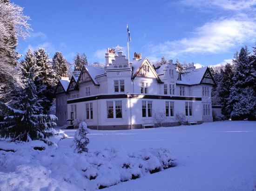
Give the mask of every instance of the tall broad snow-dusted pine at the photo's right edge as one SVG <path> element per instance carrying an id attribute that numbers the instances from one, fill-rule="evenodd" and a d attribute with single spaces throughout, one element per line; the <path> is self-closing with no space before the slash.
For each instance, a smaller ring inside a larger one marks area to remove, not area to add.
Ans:
<path id="1" fill-rule="evenodd" d="M 231 118 L 232 120 L 255 119 L 255 112 L 252 113 L 252 109 L 247 108 L 248 105 L 244 104 L 250 102 L 253 107 L 256 105 L 254 99 L 251 98 L 253 94 L 256 95 L 251 83 L 253 81 L 252 65 L 247 47 L 241 49 L 233 63 L 235 64 L 234 85 L 230 90 L 228 99 L 229 107 L 232 109 Z M 253 110 L 256 110 L 256 108 Z"/>

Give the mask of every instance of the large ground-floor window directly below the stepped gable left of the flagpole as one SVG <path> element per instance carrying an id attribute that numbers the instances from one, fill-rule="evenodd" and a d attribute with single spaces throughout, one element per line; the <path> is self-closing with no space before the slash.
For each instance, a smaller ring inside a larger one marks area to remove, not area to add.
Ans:
<path id="1" fill-rule="evenodd" d="M 109 119 L 122 118 L 122 101 L 107 101 L 107 115 Z"/>

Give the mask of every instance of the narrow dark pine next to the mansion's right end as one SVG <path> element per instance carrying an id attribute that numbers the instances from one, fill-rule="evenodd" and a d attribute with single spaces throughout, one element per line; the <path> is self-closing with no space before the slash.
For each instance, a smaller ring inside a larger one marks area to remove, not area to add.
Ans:
<path id="1" fill-rule="evenodd" d="M 233 86 L 234 77 L 234 67 L 233 65 L 227 63 L 224 69 L 221 71 L 222 78 L 220 81 L 216 81 L 219 84 L 218 96 L 220 98 L 220 104 L 222 105 L 222 114 L 225 115 L 227 119 L 230 118 L 231 109 L 228 104 L 228 99 L 230 95 L 230 89 Z"/>

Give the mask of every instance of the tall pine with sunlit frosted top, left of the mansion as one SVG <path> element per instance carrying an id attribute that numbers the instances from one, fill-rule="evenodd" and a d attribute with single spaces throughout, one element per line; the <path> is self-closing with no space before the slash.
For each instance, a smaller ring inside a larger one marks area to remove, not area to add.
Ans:
<path id="1" fill-rule="evenodd" d="M 39 67 L 38 75 L 35 77 L 37 96 L 39 103 L 43 107 L 43 114 L 47 114 L 54 99 L 54 86 L 56 78 L 54 70 L 49 62 L 49 57 L 44 49 L 39 48 L 34 51 L 36 64 Z"/>

